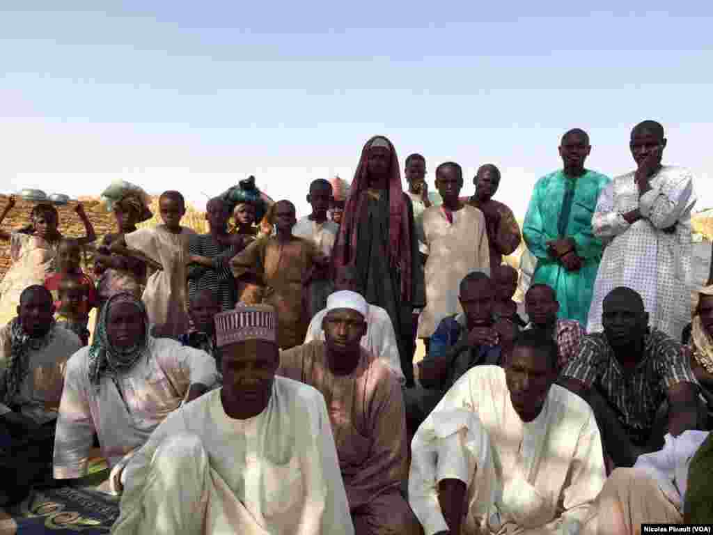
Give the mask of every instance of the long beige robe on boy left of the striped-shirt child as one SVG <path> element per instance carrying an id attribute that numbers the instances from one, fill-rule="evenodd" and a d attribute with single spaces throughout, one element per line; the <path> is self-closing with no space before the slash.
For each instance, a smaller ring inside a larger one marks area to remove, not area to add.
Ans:
<path id="1" fill-rule="evenodd" d="M 143 302 L 152 325 L 165 325 L 165 336 L 179 337 L 188 330 L 188 284 L 186 260 L 188 242 L 195 232 L 181 227 L 180 234 L 168 232 L 163 225 L 141 228 L 126 234 L 129 248 L 140 250 L 151 260 L 163 265 L 163 270 L 148 278 L 143 290 Z"/>

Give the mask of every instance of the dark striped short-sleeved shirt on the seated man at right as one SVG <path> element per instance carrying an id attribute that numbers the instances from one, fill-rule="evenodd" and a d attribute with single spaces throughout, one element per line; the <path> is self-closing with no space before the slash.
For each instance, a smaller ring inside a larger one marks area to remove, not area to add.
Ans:
<path id="1" fill-rule="evenodd" d="M 578 357 L 561 377 L 577 379 L 602 394 L 632 442 L 639 445 L 648 439 L 668 390 L 679 382 L 697 384 L 682 345 L 655 328 L 645 335 L 644 357 L 634 370 L 625 372 L 600 332 L 582 339 Z"/>

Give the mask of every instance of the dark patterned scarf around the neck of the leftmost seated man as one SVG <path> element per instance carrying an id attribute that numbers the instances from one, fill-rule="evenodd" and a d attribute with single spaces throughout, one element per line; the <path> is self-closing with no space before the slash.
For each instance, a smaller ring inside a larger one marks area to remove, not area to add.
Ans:
<path id="1" fill-rule="evenodd" d="M 5 374 L 0 382 L 0 399 L 8 406 L 13 404 L 14 397 L 20 392 L 22 382 L 30 372 L 27 352 L 39 351 L 51 344 L 54 338 L 56 323 L 51 320 L 49 330 L 41 338 L 33 338 L 22 328 L 19 317 L 10 322 L 10 360 L 6 365 Z"/>

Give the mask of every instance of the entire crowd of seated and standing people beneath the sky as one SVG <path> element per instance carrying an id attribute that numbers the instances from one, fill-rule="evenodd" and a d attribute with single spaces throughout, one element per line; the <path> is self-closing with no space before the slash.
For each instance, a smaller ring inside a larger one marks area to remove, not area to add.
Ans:
<path id="1" fill-rule="evenodd" d="M 0 302 L 17 302 L 0 331 L 0 481 L 15 481 L 0 499 L 80 479 L 98 447 L 116 534 L 710 522 L 713 279 L 692 285 L 692 177 L 662 165 L 666 143 L 635 126 L 637 170 L 610 180 L 568 131 L 522 233 L 493 199 L 495 165 L 463 198 L 458 163 L 438 165 L 436 193 L 412 154 L 404 191 L 384 136 L 351 184 L 314 180 L 299 220 L 252 183 L 207 203 L 205 235 L 180 225 L 178 191 L 139 229 L 150 199 L 124 183 L 105 192 L 117 232 L 94 248 L 96 282 L 81 204 L 83 238 L 36 205 L 0 232 Z M 503 263 L 523 239 L 538 260 L 524 311 Z"/>

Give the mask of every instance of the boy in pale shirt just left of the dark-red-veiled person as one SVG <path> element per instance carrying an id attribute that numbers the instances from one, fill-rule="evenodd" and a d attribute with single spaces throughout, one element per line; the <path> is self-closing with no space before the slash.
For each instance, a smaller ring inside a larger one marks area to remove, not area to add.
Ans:
<path id="1" fill-rule="evenodd" d="M 327 257 L 332 255 L 334 241 L 337 240 L 337 233 L 339 233 L 339 225 L 327 219 L 329 203 L 334 200 L 332 192 L 332 184 L 329 180 L 324 178 L 313 180 L 307 195 L 307 202 L 312 205 L 312 213 L 299 219 L 292 228 L 293 235 L 311 241 Z M 334 291 L 329 272 L 314 270 L 307 291 L 309 292 L 307 313 L 312 318 L 327 306 L 327 297 Z"/>

